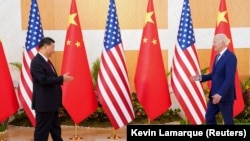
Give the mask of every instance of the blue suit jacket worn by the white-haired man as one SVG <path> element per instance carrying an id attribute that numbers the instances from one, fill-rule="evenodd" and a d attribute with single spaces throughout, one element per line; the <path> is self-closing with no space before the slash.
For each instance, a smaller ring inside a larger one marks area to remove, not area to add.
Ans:
<path id="1" fill-rule="evenodd" d="M 233 101 L 235 94 L 235 73 L 237 58 L 228 49 L 222 54 L 218 62 L 213 65 L 213 70 L 208 75 L 202 75 L 202 81 L 211 81 L 209 98 L 218 93 L 222 96 L 221 101 Z"/>

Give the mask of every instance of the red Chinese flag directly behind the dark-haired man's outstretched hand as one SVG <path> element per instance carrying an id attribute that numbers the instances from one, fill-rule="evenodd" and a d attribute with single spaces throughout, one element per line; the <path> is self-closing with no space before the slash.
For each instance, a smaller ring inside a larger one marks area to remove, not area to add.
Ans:
<path id="1" fill-rule="evenodd" d="M 71 3 L 62 61 L 62 74 L 67 72 L 74 80 L 63 84 L 63 106 L 78 124 L 96 110 L 97 98 L 75 0 Z"/>

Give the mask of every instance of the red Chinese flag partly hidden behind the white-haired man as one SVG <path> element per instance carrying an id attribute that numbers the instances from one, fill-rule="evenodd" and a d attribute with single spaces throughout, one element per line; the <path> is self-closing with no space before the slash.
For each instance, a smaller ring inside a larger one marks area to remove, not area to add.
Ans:
<path id="1" fill-rule="evenodd" d="M 229 24 L 229 18 L 228 18 L 228 11 L 227 11 L 225 0 L 220 1 L 220 7 L 219 7 L 218 14 L 217 14 L 216 28 L 215 28 L 214 34 L 218 34 L 218 33 L 223 33 L 227 35 L 227 38 L 229 40 L 228 49 L 234 52 L 233 40 L 231 36 L 230 24 Z M 216 56 L 216 53 L 214 49 L 212 48 L 211 59 L 210 59 L 211 70 L 213 67 L 213 61 L 215 59 L 215 56 Z M 241 113 L 244 109 L 244 100 L 243 100 L 240 79 L 239 79 L 237 70 L 235 74 L 235 88 L 236 88 L 235 90 L 236 99 L 234 101 L 234 112 L 233 112 L 234 117 L 237 116 L 239 113 Z"/>

